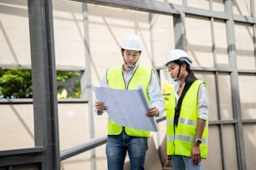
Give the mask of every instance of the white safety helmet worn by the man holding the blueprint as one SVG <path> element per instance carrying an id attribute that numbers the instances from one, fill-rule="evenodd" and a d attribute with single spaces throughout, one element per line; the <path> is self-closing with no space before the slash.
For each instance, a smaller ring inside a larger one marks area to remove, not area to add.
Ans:
<path id="1" fill-rule="evenodd" d="M 125 40 L 120 44 L 120 47 L 127 50 L 142 51 L 143 45 L 140 37 L 131 33 L 125 37 Z"/>

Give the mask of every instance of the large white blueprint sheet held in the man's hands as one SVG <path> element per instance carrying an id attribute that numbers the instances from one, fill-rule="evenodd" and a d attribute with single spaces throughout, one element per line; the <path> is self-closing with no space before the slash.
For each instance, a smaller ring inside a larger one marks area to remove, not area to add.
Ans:
<path id="1" fill-rule="evenodd" d="M 94 87 L 97 101 L 104 102 L 111 119 L 124 127 L 146 131 L 158 131 L 155 117 L 147 117 L 149 104 L 143 89 L 120 90 L 110 87 Z"/>

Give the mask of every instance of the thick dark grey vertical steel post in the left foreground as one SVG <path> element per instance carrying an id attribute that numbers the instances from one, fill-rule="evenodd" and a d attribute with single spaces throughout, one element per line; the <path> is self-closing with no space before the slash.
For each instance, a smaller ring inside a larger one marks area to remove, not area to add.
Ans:
<path id="1" fill-rule="evenodd" d="M 35 146 L 44 147 L 42 169 L 60 169 L 57 82 L 51 0 L 28 0 Z"/>

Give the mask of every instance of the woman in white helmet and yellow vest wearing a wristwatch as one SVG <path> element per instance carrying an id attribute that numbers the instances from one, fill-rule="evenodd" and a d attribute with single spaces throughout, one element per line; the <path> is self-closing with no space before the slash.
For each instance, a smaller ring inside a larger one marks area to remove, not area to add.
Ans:
<path id="1" fill-rule="evenodd" d="M 191 64 L 191 57 L 180 49 L 169 52 L 165 62 L 177 81 L 166 104 L 166 155 L 175 170 L 200 170 L 201 158 L 207 158 L 207 88 L 194 76 Z"/>

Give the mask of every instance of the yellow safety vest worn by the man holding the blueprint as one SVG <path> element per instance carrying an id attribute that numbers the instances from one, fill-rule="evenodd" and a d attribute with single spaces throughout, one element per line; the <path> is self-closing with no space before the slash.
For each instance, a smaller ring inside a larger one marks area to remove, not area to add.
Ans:
<path id="1" fill-rule="evenodd" d="M 152 69 L 149 69 L 146 67 L 140 67 L 140 66 L 136 67 L 136 70 L 128 84 L 128 87 L 127 87 L 128 90 L 137 89 L 138 86 L 142 86 L 148 101 L 150 101 L 149 95 L 147 94 L 147 87 L 151 82 L 152 71 L 153 71 Z M 107 82 L 109 87 L 115 88 L 115 89 L 126 89 L 122 67 L 111 67 L 110 69 L 108 69 L 106 73 L 106 77 L 107 77 Z M 119 135 L 122 132 L 122 128 L 123 128 L 122 126 L 113 122 L 111 120 L 111 117 L 109 116 L 108 135 Z M 125 133 L 134 137 L 146 137 L 146 138 L 150 137 L 149 131 L 144 131 L 136 128 L 125 127 Z"/>

